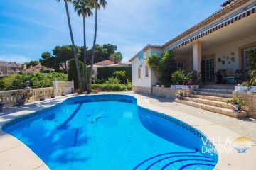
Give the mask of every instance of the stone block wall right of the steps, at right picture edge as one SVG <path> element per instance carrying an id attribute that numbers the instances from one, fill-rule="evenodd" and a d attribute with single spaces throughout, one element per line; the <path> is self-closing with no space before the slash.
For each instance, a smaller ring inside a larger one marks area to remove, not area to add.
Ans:
<path id="1" fill-rule="evenodd" d="M 247 111 L 250 118 L 256 118 L 256 92 L 251 91 L 233 91 L 233 98 L 242 97 L 245 101 L 245 106 L 242 109 Z"/>

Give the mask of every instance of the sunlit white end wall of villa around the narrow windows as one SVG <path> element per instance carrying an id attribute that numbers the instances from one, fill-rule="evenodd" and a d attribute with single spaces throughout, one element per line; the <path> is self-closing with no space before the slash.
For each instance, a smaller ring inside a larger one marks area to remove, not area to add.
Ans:
<path id="1" fill-rule="evenodd" d="M 157 55 L 161 54 L 160 50 L 149 49 L 144 52 L 142 60 L 138 58 L 132 61 L 132 86 L 142 86 L 142 87 L 151 87 L 156 84 L 156 76 L 154 72 L 149 69 L 149 77 L 146 77 L 146 57 L 156 53 Z M 141 68 L 141 77 L 138 78 L 138 68 Z"/>

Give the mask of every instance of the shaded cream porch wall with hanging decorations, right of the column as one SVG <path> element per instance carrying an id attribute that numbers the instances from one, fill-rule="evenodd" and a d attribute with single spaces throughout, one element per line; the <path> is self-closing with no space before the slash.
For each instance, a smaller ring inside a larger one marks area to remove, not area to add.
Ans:
<path id="1" fill-rule="evenodd" d="M 242 67 L 239 66 L 239 49 L 242 46 L 248 45 L 252 42 L 255 42 L 256 35 L 250 36 L 248 38 L 243 38 L 234 42 L 230 42 L 225 45 L 221 45 L 219 47 L 212 48 L 210 50 L 206 50 L 202 52 L 202 55 L 213 55 L 215 54 L 215 61 L 216 61 L 216 69 L 227 69 L 231 68 L 233 70 L 236 69 L 242 69 Z M 234 54 L 231 55 L 231 52 Z M 225 57 L 223 57 L 225 56 Z M 229 59 L 227 58 L 229 57 Z M 235 58 L 235 61 L 231 61 L 231 57 Z M 218 62 L 218 58 L 221 58 L 221 60 L 225 60 L 225 64 L 222 64 L 221 62 Z M 243 59 L 242 59 L 243 60 Z M 230 62 L 230 64 L 229 64 Z"/>

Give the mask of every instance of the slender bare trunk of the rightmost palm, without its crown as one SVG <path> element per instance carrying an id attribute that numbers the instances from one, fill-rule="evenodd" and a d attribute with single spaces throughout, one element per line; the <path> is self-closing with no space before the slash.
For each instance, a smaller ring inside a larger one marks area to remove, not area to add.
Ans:
<path id="1" fill-rule="evenodd" d="M 97 2 L 95 2 L 95 5 L 97 5 Z M 92 67 L 93 67 L 93 62 L 94 62 L 94 57 L 95 57 L 95 44 L 96 44 L 96 38 L 97 38 L 97 6 L 95 7 L 95 35 L 94 35 L 94 40 L 93 40 L 93 47 L 92 47 L 92 60 L 90 64 L 90 74 L 89 74 L 89 86 L 88 86 L 88 92 L 92 92 Z"/>

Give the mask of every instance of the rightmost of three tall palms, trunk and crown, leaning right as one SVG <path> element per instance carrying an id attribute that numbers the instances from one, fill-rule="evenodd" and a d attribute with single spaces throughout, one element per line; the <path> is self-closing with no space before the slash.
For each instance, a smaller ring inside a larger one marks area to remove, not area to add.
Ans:
<path id="1" fill-rule="evenodd" d="M 103 8 L 106 7 L 107 1 L 105 0 L 90 0 L 94 2 L 94 8 L 95 8 L 95 35 L 94 35 L 94 40 L 93 40 L 93 47 L 92 47 L 92 59 L 91 59 L 91 64 L 90 64 L 90 74 L 89 74 L 89 86 L 88 86 L 88 92 L 92 92 L 92 67 L 93 67 L 93 62 L 94 62 L 94 57 L 95 57 L 95 44 L 96 44 L 96 38 L 97 38 L 97 11 L 100 9 L 100 6 Z"/>

